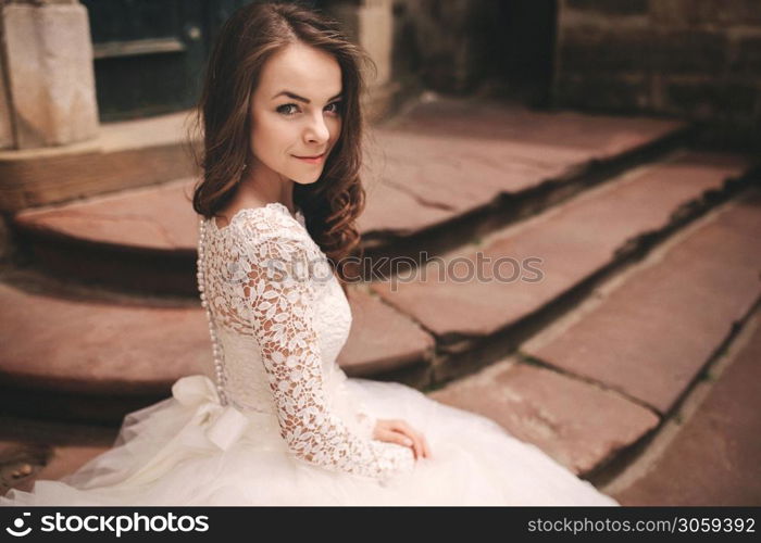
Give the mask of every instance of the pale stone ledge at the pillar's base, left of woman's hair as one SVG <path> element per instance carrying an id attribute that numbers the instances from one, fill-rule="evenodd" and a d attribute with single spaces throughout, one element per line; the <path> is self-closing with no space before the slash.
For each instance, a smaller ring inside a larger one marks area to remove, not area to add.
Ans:
<path id="1" fill-rule="evenodd" d="M 104 123 L 97 138 L 70 146 L 0 151 L 0 210 L 50 205 L 192 175 L 189 113 Z"/>

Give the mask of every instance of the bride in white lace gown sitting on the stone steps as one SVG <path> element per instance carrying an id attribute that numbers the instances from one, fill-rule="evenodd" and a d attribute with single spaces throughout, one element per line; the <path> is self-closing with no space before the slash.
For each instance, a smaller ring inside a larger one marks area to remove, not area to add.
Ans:
<path id="1" fill-rule="evenodd" d="M 294 4 L 227 21 L 194 194 L 213 365 L 128 414 L 76 472 L 0 504 L 619 505 L 492 420 L 336 364 L 351 312 L 332 264 L 357 247 L 364 203 L 363 60 Z"/>

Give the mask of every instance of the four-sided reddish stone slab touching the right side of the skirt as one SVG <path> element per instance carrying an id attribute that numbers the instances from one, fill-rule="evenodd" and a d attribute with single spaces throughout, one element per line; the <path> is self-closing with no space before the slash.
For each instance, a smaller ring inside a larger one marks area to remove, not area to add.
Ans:
<path id="1" fill-rule="evenodd" d="M 428 396 L 491 418 L 577 475 L 597 468 L 659 422 L 652 411 L 615 392 L 512 357 Z"/>

